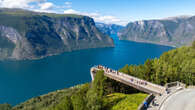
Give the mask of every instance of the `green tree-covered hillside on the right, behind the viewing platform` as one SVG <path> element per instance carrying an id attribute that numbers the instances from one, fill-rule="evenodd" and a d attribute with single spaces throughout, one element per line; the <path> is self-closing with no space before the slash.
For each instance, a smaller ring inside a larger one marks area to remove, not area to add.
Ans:
<path id="1" fill-rule="evenodd" d="M 161 85 L 174 81 L 195 85 L 195 42 L 191 47 L 165 52 L 159 59 L 147 60 L 143 65 L 126 65 L 120 71 Z"/>

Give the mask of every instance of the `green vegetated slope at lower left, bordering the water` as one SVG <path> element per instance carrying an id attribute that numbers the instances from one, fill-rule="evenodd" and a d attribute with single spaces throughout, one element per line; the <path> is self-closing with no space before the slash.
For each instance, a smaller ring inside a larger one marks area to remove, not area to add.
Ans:
<path id="1" fill-rule="evenodd" d="M 83 85 L 77 85 L 68 89 L 57 90 L 46 95 L 32 98 L 24 103 L 16 105 L 12 110 L 51 110 L 51 108 L 62 102 L 65 96 L 71 96 L 82 86 Z"/>

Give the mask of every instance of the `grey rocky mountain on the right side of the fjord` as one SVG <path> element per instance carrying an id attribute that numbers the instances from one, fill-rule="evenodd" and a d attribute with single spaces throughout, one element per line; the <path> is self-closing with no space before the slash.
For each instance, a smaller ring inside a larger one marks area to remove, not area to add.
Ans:
<path id="1" fill-rule="evenodd" d="M 121 40 L 176 47 L 189 45 L 195 40 L 195 16 L 130 22 L 118 35 Z"/>

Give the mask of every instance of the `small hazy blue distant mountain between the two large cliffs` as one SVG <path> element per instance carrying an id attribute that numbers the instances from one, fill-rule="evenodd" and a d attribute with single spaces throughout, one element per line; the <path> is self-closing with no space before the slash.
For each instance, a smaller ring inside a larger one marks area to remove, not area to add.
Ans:
<path id="1" fill-rule="evenodd" d="M 123 29 L 124 26 L 116 25 L 116 24 L 104 24 L 96 22 L 96 27 L 104 34 L 111 35 L 117 34 L 119 30 Z"/>

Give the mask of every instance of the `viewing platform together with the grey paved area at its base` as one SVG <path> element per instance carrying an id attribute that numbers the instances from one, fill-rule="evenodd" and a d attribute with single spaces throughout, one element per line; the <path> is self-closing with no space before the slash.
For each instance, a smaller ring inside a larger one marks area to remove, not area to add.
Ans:
<path id="1" fill-rule="evenodd" d="M 178 81 L 160 86 L 101 65 L 91 68 L 92 80 L 99 70 L 103 70 L 106 77 L 150 94 L 138 110 L 194 110 L 194 86 L 186 89 L 186 85 Z"/>

